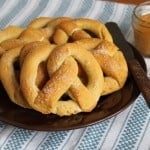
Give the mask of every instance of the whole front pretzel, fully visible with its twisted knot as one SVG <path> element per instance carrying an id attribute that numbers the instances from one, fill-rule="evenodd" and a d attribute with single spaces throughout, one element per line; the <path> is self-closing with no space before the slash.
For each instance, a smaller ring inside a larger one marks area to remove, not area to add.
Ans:
<path id="1" fill-rule="evenodd" d="M 44 114 L 64 116 L 91 111 L 103 89 L 104 78 L 99 64 L 90 52 L 78 44 L 54 47 L 37 48 L 25 57 L 20 83 L 26 100 L 32 108 Z M 36 72 L 45 60 L 50 78 L 39 89 L 35 85 Z M 78 64 L 87 75 L 86 84 L 78 77 Z M 64 101 L 63 95 L 69 98 Z"/>

